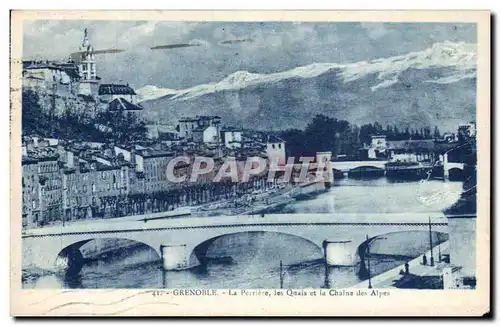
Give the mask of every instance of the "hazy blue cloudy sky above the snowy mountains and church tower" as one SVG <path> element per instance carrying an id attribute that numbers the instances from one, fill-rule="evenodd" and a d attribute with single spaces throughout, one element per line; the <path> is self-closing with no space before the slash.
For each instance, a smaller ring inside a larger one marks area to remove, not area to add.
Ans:
<path id="1" fill-rule="evenodd" d="M 23 59 L 63 59 L 87 28 L 105 83 L 183 89 L 240 70 L 274 73 L 312 63 L 351 63 L 424 50 L 436 42 L 476 43 L 475 24 L 172 21 L 29 21 Z M 169 45 L 152 50 L 152 47 Z M 191 46 L 187 46 L 191 45 Z"/>

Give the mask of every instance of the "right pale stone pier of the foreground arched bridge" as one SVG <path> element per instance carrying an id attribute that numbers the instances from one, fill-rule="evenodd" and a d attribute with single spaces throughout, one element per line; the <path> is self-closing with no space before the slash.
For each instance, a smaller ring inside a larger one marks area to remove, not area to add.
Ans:
<path id="1" fill-rule="evenodd" d="M 355 266 L 359 259 L 352 241 L 323 241 L 323 254 L 329 266 Z"/>

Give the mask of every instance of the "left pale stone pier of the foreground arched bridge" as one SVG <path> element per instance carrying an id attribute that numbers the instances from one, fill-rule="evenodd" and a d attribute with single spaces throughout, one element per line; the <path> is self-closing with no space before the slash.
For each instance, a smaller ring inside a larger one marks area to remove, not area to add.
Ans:
<path id="1" fill-rule="evenodd" d="M 200 261 L 187 245 L 161 245 L 160 253 L 163 269 L 179 271 L 200 265 Z"/>

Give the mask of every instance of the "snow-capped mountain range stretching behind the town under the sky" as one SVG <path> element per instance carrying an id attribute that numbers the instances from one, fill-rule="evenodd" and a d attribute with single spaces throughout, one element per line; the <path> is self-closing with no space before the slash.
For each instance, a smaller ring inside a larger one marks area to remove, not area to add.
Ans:
<path id="1" fill-rule="evenodd" d="M 219 115 L 227 125 L 304 128 L 316 114 L 358 125 L 437 125 L 455 131 L 475 120 L 476 45 L 436 43 L 420 51 L 348 64 L 313 63 L 271 74 L 237 71 L 226 78 L 174 90 L 137 91 L 150 121 Z"/>

